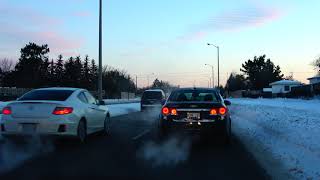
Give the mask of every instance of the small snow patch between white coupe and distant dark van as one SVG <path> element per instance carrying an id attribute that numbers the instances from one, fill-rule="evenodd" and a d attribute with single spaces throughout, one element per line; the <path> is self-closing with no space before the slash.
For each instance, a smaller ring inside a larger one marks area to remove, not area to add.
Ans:
<path id="1" fill-rule="evenodd" d="M 107 107 L 109 108 L 111 117 L 140 111 L 140 103 L 112 104 L 107 105 Z"/>

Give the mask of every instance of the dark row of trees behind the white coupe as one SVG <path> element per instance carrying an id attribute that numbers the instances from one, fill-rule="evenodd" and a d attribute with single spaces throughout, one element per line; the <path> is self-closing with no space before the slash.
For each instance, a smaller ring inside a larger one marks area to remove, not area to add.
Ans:
<path id="1" fill-rule="evenodd" d="M 98 67 L 88 55 L 65 58 L 59 55 L 49 59 L 47 44 L 29 43 L 20 51 L 18 62 L 0 60 L 0 83 L 2 87 L 78 87 L 97 90 Z M 103 67 L 103 90 L 108 97 L 119 97 L 121 91 L 135 92 L 133 79 L 125 71 L 109 66 Z"/>

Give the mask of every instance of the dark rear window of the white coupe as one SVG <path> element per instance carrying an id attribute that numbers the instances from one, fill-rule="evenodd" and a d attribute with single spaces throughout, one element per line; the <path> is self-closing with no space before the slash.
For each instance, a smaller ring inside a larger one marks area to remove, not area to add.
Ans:
<path id="1" fill-rule="evenodd" d="M 47 100 L 65 101 L 73 93 L 72 90 L 33 90 L 19 98 L 18 101 Z"/>

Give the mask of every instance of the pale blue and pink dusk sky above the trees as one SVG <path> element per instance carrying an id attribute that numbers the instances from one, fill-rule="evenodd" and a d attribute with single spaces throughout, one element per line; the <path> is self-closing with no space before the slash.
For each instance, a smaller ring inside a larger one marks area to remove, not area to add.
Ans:
<path id="1" fill-rule="evenodd" d="M 241 64 L 266 54 L 302 82 L 320 55 L 318 0 L 104 0 L 103 64 L 181 86 L 221 82 Z M 17 60 L 28 42 L 59 54 L 98 60 L 98 0 L 0 0 L 0 58 Z M 152 75 L 152 73 L 154 73 Z"/>

